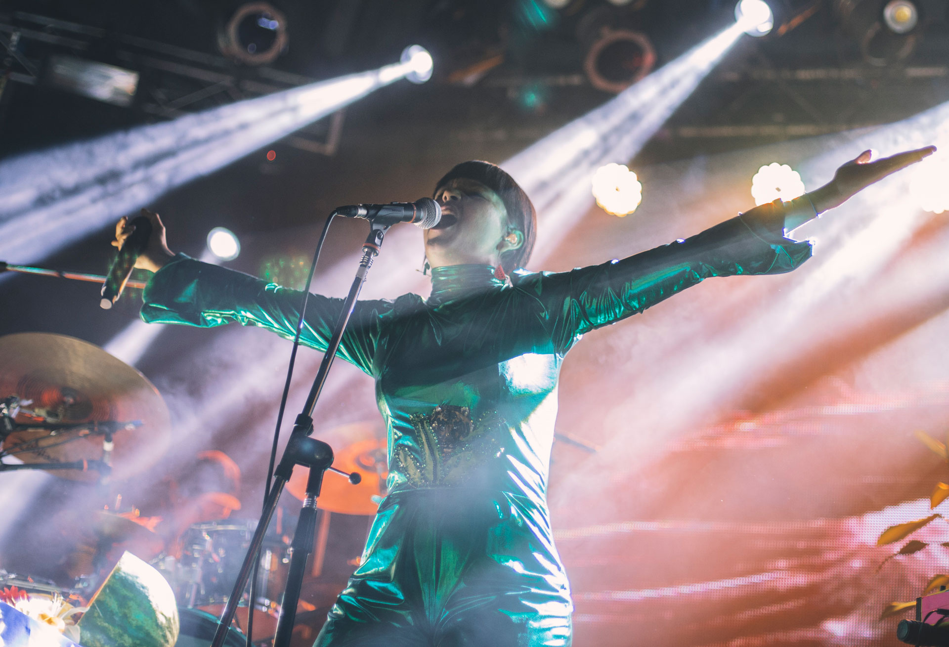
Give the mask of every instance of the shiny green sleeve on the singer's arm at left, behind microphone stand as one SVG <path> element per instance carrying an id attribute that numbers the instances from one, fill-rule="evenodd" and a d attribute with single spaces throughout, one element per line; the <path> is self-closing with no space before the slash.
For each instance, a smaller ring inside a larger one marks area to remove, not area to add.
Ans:
<path id="1" fill-rule="evenodd" d="M 213 327 L 238 322 L 266 328 L 288 340 L 296 333 L 303 303 L 298 290 L 201 263 L 184 254 L 158 270 L 145 286 L 143 299 L 141 319 L 148 324 Z M 374 375 L 381 313 L 390 307 L 387 301 L 357 302 L 337 355 Z M 310 294 L 300 342 L 326 351 L 342 310 L 343 299 Z"/>

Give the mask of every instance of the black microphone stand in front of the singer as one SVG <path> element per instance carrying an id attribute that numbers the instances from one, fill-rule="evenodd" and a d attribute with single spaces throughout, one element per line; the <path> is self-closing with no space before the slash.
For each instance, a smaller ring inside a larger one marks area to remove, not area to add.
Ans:
<path id="1" fill-rule="evenodd" d="M 294 420 L 293 431 L 290 433 L 287 447 L 280 463 L 277 465 L 277 469 L 273 473 L 274 478 L 273 485 L 270 488 L 270 496 L 264 502 L 264 510 L 260 515 L 260 521 L 257 522 L 251 545 L 244 557 L 244 563 L 241 564 L 240 571 L 237 574 L 237 581 L 234 582 L 231 596 L 228 598 L 224 611 L 218 620 L 212 647 L 223 647 L 224 645 L 224 640 L 227 638 L 234 614 L 237 611 L 237 604 L 244 595 L 244 588 L 250 578 L 251 568 L 253 568 L 256 555 L 260 551 L 261 545 L 263 545 L 264 535 L 267 532 L 267 527 L 270 526 L 270 519 L 273 517 L 277 502 L 280 500 L 280 494 L 290 479 L 293 467 L 295 465 L 308 467 L 309 478 L 307 480 L 307 495 L 303 502 L 303 508 L 300 510 L 300 519 L 297 522 L 296 530 L 293 533 L 291 544 L 293 554 L 290 557 L 287 584 L 280 605 L 280 617 L 277 619 L 277 633 L 273 638 L 273 647 L 289 647 L 290 644 L 293 622 L 296 619 L 297 603 L 300 601 L 300 589 L 307 568 L 307 558 L 313 547 L 313 536 L 316 528 L 316 501 L 320 496 L 324 472 L 327 470 L 336 471 L 348 476 L 351 483 L 359 482 L 359 474 L 347 474 L 344 471 L 330 467 L 333 463 L 332 448 L 325 442 L 310 437 L 313 432 L 312 414 L 316 401 L 323 391 L 324 384 L 326 384 L 329 368 L 336 358 L 336 351 L 340 347 L 340 342 L 343 341 L 346 324 L 349 323 L 349 318 L 356 306 L 356 300 L 363 289 L 366 274 L 372 266 L 373 259 L 379 254 L 382 238 L 385 236 L 385 232 L 389 230 L 390 225 L 391 223 L 369 222 L 370 231 L 365 243 L 363 243 L 363 258 L 360 260 L 359 269 L 356 271 L 352 286 L 349 287 L 349 294 L 346 295 L 343 311 L 340 313 L 333 335 L 326 345 L 326 353 L 320 362 L 320 370 L 313 380 L 313 385 L 310 387 L 304 411 Z M 253 603 L 254 601 L 251 600 L 251 611 Z"/>

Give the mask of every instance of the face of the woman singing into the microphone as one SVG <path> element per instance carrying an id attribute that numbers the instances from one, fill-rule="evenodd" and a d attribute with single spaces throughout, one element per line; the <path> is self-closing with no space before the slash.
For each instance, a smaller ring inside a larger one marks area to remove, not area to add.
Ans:
<path id="1" fill-rule="evenodd" d="M 458 177 L 438 189 L 441 220 L 425 230 L 425 255 L 433 268 L 497 265 L 501 252 L 523 244 L 524 234 L 508 225 L 498 194 L 473 179 Z"/>

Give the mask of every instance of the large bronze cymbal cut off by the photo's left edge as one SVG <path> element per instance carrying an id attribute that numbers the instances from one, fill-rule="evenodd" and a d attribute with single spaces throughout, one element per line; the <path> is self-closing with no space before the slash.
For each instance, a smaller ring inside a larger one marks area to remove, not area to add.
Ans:
<path id="1" fill-rule="evenodd" d="M 112 478 L 122 480 L 155 464 L 167 450 L 170 418 L 155 386 L 102 348 L 65 335 L 18 333 L 0 337 L 0 397 L 32 400 L 29 410 L 64 424 L 140 421 L 113 435 Z M 35 421 L 17 416 L 16 422 Z M 9 434 L 3 449 L 25 463 L 102 458 L 102 435 L 82 428 Z M 76 481 L 96 481 L 96 471 L 53 470 Z"/>

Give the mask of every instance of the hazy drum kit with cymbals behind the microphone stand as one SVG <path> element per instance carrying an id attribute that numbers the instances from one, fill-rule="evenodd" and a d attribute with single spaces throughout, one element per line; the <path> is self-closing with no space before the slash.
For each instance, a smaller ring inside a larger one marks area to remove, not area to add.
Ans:
<path id="1" fill-rule="evenodd" d="M 349 431 L 364 437 L 366 426 Z M 346 434 L 345 429 L 342 432 Z M 171 442 L 168 408 L 155 386 L 136 369 L 71 337 L 46 333 L 0 337 L 0 471 L 43 470 L 62 479 L 102 485 L 96 490 L 102 492 L 99 509 L 63 517 L 62 534 L 74 542 L 65 570 L 75 578 L 75 584 L 62 587 L 43 578 L 0 570 L 0 591 L 56 596 L 68 603 L 70 613 L 78 613 L 73 610 L 84 609 L 87 602 L 99 600 L 102 604 L 103 592 L 117 585 L 116 572 L 121 569 L 116 564 L 124 564 L 131 553 L 144 564 L 135 566 L 140 577 L 147 579 L 141 575 L 142 568 L 160 575 L 177 605 L 177 642 L 169 642 L 163 635 L 156 638 L 155 647 L 208 644 L 257 522 L 230 518 L 200 521 L 170 537 L 157 531 L 158 517 L 122 508 L 121 497 L 114 492 L 154 467 Z M 384 440 L 351 442 L 335 455 L 334 467 L 360 472 L 363 479 L 357 486 L 343 479 L 327 479 L 319 507 L 345 514 L 374 514 L 384 495 Z M 307 470 L 298 469 L 287 489 L 303 499 L 306 485 Z M 233 499 L 224 492 L 211 494 Z M 224 508 L 239 508 L 239 502 L 233 499 Z M 252 603 L 246 595 L 241 601 L 226 644 L 244 644 L 242 629 L 251 613 L 254 642 L 266 644 L 272 638 L 289 555 L 288 538 L 269 530 L 260 553 L 258 595 Z M 9 568 L 10 564 L 0 566 Z M 136 604 L 154 606 L 157 602 L 145 599 Z M 301 602 L 298 608 L 312 611 L 314 607 Z M 81 619 L 80 627 L 83 624 Z M 140 638 L 134 642 L 135 647 L 150 647 Z"/>

